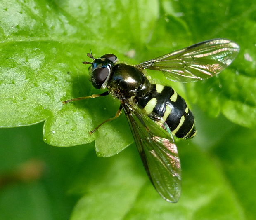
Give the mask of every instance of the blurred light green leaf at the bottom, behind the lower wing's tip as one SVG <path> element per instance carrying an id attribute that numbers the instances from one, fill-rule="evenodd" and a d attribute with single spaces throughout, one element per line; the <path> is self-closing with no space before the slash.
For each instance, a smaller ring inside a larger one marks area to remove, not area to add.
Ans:
<path id="1" fill-rule="evenodd" d="M 135 145 L 109 159 L 88 154 L 87 169 L 72 192 L 85 192 L 71 220 L 81 219 L 243 219 L 243 210 L 221 170 L 200 150 L 180 143 L 183 190 L 171 204 L 155 191 Z"/>

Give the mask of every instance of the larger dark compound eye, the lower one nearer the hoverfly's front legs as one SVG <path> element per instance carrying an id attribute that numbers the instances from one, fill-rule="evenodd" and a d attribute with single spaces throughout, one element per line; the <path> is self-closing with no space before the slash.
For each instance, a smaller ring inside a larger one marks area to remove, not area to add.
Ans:
<path id="1" fill-rule="evenodd" d="M 92 85 L 96 89 L 100 89 L 102 84 L 107 80 L 107 77 L 110 73 L 110 69 L 107 67 L 101 67 L 93 70 L 92 72 Z"/>

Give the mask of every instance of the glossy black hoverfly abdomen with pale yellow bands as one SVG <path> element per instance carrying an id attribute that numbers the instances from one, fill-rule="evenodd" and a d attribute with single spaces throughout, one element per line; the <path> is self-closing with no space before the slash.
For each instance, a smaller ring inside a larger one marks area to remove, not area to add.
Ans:
<path id="1" fill-rule="evenodd" d="M 136 97 L 137 104 L 146 114 L 161 116 L 178 138 L 192 138 L 196 134 L 194 115 L 185 100 L 172 87 L 152 84 L 148 96 Z"/>

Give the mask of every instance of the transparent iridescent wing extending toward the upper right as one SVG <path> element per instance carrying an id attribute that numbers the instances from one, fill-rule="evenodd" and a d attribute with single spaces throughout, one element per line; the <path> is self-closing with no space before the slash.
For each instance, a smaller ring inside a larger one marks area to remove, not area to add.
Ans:
<path id="1" fill-rule="evenodd" d="M 227 39 L 207 40 L 138 64 L 139 69 L 160 70 L 168 80 L 194 82 L 220 73 L 239 52 L 239 46 Z"/>

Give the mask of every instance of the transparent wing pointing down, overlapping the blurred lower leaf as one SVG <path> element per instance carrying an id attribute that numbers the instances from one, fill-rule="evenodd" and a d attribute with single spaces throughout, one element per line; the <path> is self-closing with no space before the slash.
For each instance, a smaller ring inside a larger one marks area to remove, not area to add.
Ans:
<path id="1" fill-rule="evenodd" d="M 153 120 L 161 117 L 149 118 L 129 103 L 123 104 L 123 110 L 151 182 L 166 201 L 177 202 L 181 190 L 180 159 L 167 124 L 158 125 Z"/>

